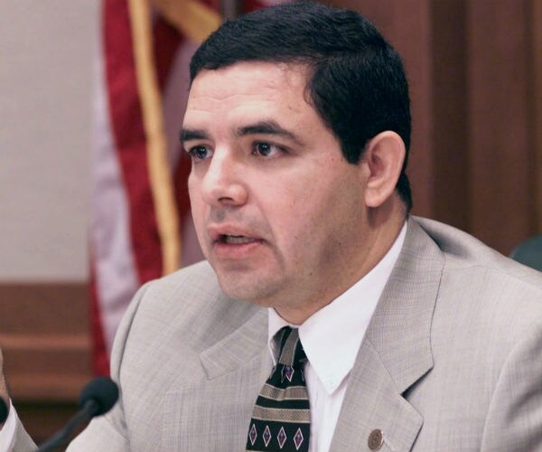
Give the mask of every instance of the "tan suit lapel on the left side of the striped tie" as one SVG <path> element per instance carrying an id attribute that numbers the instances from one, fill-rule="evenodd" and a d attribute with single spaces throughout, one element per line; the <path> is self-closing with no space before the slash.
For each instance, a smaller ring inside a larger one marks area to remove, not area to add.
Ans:
<path id="1" fill-rule="evenodd" d="M 234 302 L 241 303 L 241 302 Z M 167 394 L 164 450 L 244 450 L 252 409 L 271 368 L 267 311 L 200 353 L 205 375 Z"/>

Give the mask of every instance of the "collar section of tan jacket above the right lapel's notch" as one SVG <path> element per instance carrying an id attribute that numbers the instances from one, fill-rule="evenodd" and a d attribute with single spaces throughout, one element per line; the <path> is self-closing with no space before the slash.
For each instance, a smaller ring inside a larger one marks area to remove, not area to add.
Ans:
<path id="1" fill-rule="evenodd" d="M 409 219 L 403 250 L 365 338 L 400 393 L 433 367 L 431 324 L 443 268 L 442 251 Z"/>

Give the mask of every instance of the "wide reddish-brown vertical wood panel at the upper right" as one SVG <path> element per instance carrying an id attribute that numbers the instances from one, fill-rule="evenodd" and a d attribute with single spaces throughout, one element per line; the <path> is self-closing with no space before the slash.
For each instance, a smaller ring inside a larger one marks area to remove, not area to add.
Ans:
<path id="1" fill-rule="evenodd" d="M 469 217 L 502 251 L 532 232 L 527 0 L 468 3 Z"/>

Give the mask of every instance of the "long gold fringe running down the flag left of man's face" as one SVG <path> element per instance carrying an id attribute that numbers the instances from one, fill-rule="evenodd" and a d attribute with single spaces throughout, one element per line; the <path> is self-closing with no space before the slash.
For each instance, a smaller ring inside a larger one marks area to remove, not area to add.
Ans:
<path id="1" fill-rule="evenodd" d="M 166 275 L 181 265 L 181 230 L 167 155 L 162 96 L 154 69 L 151 11 L 147 0 L 128 0 L 128 5 L 147 140 L 147 165 L 162 246 L 163 273 Z"/>

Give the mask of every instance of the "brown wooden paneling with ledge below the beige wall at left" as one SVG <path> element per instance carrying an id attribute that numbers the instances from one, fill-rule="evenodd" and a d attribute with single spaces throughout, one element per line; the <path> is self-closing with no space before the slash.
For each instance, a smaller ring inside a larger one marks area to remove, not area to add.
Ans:
<path id="1" fill-rule="evenodd" d="M 37 441 L 77 408 L 91 376 L 88 287 L 0 284 L 0 346 L 10 395 Z"/>

